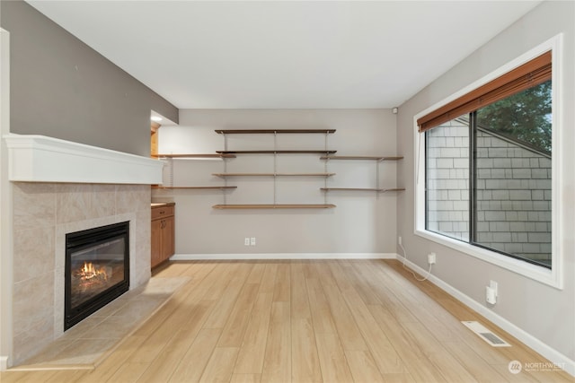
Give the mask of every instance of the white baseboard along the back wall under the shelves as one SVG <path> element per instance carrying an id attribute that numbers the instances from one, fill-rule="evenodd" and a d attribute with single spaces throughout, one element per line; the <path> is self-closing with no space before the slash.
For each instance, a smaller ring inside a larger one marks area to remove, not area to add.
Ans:
<path id="1" fill-rule="evenodd" d="M 395 259 L 394 253 L 250 253 L 250 254 L 175 254 L 172 261 L 231 259 Z"/>

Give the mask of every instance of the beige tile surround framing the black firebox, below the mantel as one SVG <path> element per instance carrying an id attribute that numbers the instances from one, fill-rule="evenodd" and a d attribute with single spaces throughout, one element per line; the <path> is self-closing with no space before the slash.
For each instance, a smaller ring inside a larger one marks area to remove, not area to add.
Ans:
<path id="1" fill-rule="evenodd" d="M 65 235 L 130 222 L 130 290 L 150 278 L 148 185 L 13 183 L 13 363 L 64 334 Z"/>

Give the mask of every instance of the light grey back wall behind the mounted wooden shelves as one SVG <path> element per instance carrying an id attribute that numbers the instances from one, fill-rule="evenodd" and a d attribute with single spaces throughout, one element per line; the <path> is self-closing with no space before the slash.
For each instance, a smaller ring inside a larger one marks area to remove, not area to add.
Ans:
<path id="1" fill-rule="evenodd" d="M 394 155 L 395 115 L 388 109 L 322 110 L 181 110 L 180 126 L 159 129 L 159 152 L 210 153 L 224 149 L 214 129 L 334 128 L 328 148 L 340 155 Z M 273 149 L 273 135 L 229 135 L 228 149 Z M 324 135 L 278 135 L 280 149 L 323 149 Z M 401 154 L 401 153 L 400 153 Z M 323 172 L 319 154 L 282 154 L 277 172 Z M 344 163 L 345 162 L 345 163 Z M 228 172 L 273 171 L 273 155 L 238 155 Z M 380 164 L 381 184 L 394 187 L 395 162 Z M 211 176 L 223 161 L 174 161 L 174 186 L 223 185 Z M 330 161 L 332 187 L 375 187 L 376 162 Z M 229 178 L 237 189 L 226 192 L 228 204 L 270 204 L 273 178 Z M 278 203 L 323 204 L 323 178 L 278 178 Z M 215 210 L 221 191 L 155 191 L 155 200 L 176 203 L 176 254 L 239 253 L 395 253 L 397 193 L 330 192 L 334 209 Z M 246 247 L 245 237 L 257 245 Z"/>

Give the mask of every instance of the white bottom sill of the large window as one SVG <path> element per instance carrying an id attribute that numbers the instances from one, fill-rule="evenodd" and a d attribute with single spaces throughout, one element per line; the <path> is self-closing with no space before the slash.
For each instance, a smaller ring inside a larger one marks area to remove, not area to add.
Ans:
<path id="1" fill-rule="evenodd" d="M 453 248 L 461 253 L 464 253 L 465 255 L 481 259 L 482 261 L 488 262 L 491 265 L 497 265 L 513 273 L 523 275 L 526 278 L 532 279 L 536 282 L 544 283 L 556 289 L 562 290 L 562 283 L 560 281 L 559 275 L 555 270 L 553 270 L 556 269 L 556 267 L 553 267 L 552 270 L 549 270 L 545 267 L 532 265 L 519 259 L 507 257 L 485 248 L 478 248 L 469 243 L 461 242 L 456 239 L 450 239 L 431 231 L 416 230 L 415 234 L 424 239 L 429 239 L 440 245 L 447 246 L 448 248 Z"/>

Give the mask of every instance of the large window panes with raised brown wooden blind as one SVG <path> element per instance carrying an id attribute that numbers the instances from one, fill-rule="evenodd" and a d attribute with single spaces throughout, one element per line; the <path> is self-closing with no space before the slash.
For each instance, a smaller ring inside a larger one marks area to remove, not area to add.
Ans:
<path id="1" fill-rule="evenodd" d="M 418 118 L 419 229 L 553 269 L 551 59 L 546 52 Z"/>

